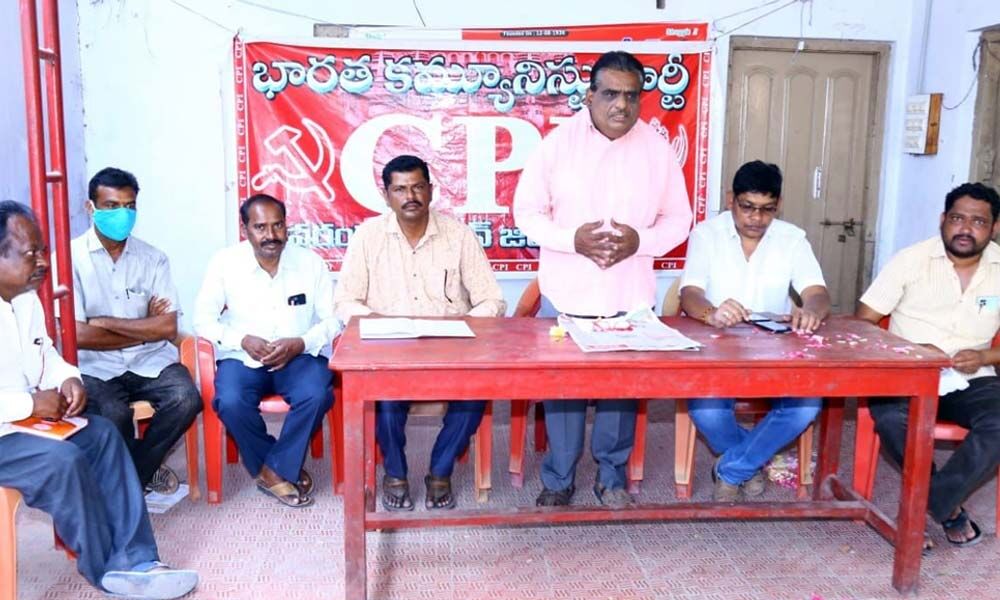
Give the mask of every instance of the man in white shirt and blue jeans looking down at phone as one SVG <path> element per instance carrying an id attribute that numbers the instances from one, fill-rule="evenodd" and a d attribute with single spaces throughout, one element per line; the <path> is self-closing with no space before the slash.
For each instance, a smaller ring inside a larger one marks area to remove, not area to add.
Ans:
<path id="1" fill-rule="evenodd" d="M 805 232 L 775 218 L 781 171 L 749 162 L 736 171 L 727 212 L 698 225 L 688 240 L 681 308 L 713 327 L 731 327 L 750 313 L 772 313 L 799 333 L 812 333 L 830 313 L 830 295 Z M 789 290 L 802 300 L 793 304 Z M 695 426 L 719 455 L 713 498 L 736 502 L 764 492 L 761 468 L 816 418 L 820 398 L 776 398 L 753 429 L 736 422 L 731 398 L 689 400 Z M 809 457 L 802 457 L 809 460 Z"/>

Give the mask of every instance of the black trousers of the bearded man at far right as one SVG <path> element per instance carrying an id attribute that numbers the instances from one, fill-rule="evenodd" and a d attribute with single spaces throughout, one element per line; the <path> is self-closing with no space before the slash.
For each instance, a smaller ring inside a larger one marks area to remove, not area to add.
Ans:
<path id="1" fill-rule="evenodd" d="M 878 399 L 871 401 L 869 408 L 882 446 L 897 464 L 902 464 L 909 402 Z M 978 377 L 969 382 L 968 388 L 942 396 L 938 418 L 969 430 L 948 462 L 932 471 L 927 510 L 940 523 L 951 517 L 1000 463 L 1000 378 Z"/>

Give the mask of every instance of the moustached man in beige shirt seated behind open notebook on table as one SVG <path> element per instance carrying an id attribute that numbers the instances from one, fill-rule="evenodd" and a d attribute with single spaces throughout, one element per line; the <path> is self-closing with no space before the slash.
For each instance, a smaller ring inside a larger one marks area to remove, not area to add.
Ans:
<path id="1" fill-rule="evenodd" d="M 500 317 L 507 307 L 486 253 L 458 219 L 430 210 L 433 186 L 425 163 L 397 156 L 382 169 L 390 212 L 361 224 L 351 238 L 334 292 L 337 316 Z M 406 479 L 409 402 L 375 405 L 375 437 L 385 457 L 382 505 L 413 510 Z M 428 509 L 452 508 L 455 459 L 479 428 L 485 401 L 448 404 L 424 477 Z"/>

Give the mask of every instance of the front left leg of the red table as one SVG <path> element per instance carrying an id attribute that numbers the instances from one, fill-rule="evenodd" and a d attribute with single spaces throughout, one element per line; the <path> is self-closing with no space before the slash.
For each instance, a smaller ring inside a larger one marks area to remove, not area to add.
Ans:
<path id="1" fill-rule="evenodd" d="M 346 379 L 346 378 L 345 378 Z M 368 593 L 365 564 L 365 406 L 344 381 L 344 597 Z"/>

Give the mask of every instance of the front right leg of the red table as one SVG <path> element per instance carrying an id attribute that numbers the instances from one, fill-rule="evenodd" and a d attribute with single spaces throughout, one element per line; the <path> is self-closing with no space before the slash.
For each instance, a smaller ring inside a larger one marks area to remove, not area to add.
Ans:
<path id="1" fill-rule="evenodd" d="M 934 460 L 934 422 L 937 395 L 915 396 L 910 401 L 903 456 L 903 484 L 899 498 L 896 556 L 892 585 L 902 594 L 915 593 L 920 582 L 920 558 L 927 518 L 927 492 Z"/>

